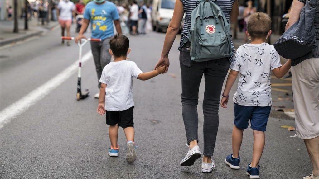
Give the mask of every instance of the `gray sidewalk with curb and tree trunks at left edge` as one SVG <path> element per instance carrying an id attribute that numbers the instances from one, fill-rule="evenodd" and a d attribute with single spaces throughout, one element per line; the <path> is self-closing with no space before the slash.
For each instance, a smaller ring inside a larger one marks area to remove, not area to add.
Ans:
<path id="1" fill-rule="evenodd" d="M 41 25 L 37 19 L 28 21 L 28 30 L 24 30 L 24 19 L 19 19 L 19 33 L 13 33 L 13 20 L 0 21 L 0 47 L 37 36 L 45 31 L 51 30 L 58 25 L 58 22 L 50 21 L 49 24 Z"/>

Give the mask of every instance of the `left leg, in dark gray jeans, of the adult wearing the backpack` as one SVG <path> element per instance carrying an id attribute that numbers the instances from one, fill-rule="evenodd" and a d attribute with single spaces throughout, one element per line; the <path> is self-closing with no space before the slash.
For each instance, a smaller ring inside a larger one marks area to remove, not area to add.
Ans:
<path id="1" fill-rule="evenodd" d="M 182 49 L 180 67 L 182 76 L 182 116 L 185 125 L 189 148 L 197 145 L 198 141 L 198 90 L 204 73 L 200 62 L 190 60 L 190 51 Z"/>

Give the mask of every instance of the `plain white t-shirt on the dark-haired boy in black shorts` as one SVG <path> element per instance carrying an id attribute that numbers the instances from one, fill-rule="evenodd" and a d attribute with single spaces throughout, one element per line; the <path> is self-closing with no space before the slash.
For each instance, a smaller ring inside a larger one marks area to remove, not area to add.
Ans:
<path id="1" fill-rule="evenodd" d="M 135 62 L 127 60 L 110 62 L 103 68 L 100 82 L 107 84 L 106 110 L 123 111 L 134 106 L 133 77 L 141 73 Z"/>

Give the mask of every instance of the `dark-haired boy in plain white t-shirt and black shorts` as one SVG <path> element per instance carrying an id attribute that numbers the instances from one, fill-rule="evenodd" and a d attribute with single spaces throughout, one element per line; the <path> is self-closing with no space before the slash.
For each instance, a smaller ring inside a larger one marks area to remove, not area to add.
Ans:
<path id="1" fill-rule="evenodd" d="M 109 53 L 114 56 L 114 62 L 110 62 L 103 69 L 97 112 L 100 115 L 106 113 L 106 124 L 110 125 L 108 132 L 111 147 L 108 149 L 108 154 L 118 156 L 117 135 L 121 126 L 127 139 L 126 161 L 131 163 L 137 158 L 133 128 L 133 77 L 148 80 L 164 73 L 165 66 L 143 73 L 133 61 L 126 60 L 130 51 L 129 39 L 126 36 L 115 35 L 110 39 Z"/>

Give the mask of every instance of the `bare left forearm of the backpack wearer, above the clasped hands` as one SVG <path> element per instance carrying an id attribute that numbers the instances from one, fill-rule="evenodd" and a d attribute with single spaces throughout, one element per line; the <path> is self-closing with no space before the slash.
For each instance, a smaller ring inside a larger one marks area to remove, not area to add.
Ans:
<path id="1" fill-rule="evenodd" d="M 179 28 L 179 27 L 178 27 Z M 161 53 L 162 58 L 167 58 L 168 53 L 171 50 L 174 40 L 176 38 L 176 35 L 178 33 L 179 29 L 173 28 L 171 25 L 168 26 L 165 40 L 164 40 L 164 45 Z"/>

